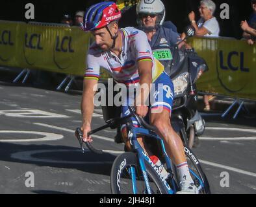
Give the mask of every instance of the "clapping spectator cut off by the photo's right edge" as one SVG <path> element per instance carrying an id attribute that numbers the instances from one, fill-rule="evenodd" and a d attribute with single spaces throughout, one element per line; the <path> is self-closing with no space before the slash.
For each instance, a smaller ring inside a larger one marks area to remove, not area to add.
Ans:
<path id="1" fill-rule="evenodd" d="M 253 45 L 256 41 L 256 0 L 251 0 L 251 7 L 253 8 L 253 14 L 249 21 L 241 21 L 241 28 L 244 30 L 243 37 L 248 40 L 249 45 Z"/>

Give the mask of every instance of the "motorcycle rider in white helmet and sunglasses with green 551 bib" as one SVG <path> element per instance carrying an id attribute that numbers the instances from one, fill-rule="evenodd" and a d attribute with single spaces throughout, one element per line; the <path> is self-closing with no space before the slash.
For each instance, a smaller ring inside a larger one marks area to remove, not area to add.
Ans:
<path id="1" fill-rule="evenodd" d="M 164 21 L 166 16 L 164 4 L 160 0 L 141 0 L 136 6 L 136 14 L 139 29 L 146 32 L 147 40 L 155 53 L 155 58 L 164 65 L 164 70 L 170 75 L 172 60 L 170 48 L 181 41 L 181 38 L 180 34 L 177 33 L 175 25 L 171 21 Z M 178 47 L 179 49 L 182 47 L 191 49 L 185 42 L 181 42 Z M 164 53 L 161 51 L 164 51 Z M 170 53 L 166 54 L 167 51 Z"/>

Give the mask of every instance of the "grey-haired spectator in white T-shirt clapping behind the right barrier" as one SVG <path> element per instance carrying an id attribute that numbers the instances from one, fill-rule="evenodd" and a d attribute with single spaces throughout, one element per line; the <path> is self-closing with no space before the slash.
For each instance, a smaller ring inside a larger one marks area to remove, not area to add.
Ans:
<path id="1" fill-rule="evenodd" d="M 191 25 L 196 29 L 196 35 L 198 36 L 209 36 L 209 37 L 218 37 L 220 34 L 220 26 L 216 19 L 213 16 L 216 10 L 216 5 L 211 0 L 203 0 L 200 2 L 199 6 L 199 14 L 201 18 L 198 23 L 196 23 L 196 15 L 195 12 L 190 12 L 188 14 L 188 18 L 191 22 Z M 181 38 L 185 38 L 185 34 L 181 35 Z M 210 111 L 210 103 L 215 96 L 205 95 L 203 96 L 203 101 L 205 102 L 204 111 Z"/>

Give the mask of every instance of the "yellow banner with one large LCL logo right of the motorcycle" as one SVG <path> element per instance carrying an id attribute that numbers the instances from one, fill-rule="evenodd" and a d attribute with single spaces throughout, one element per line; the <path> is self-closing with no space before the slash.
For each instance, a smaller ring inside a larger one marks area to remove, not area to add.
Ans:
<path id="1" fill-rule="evenodd" d="M 256 100 L 256 45 L 229 38 L 188 42 L 209 66 L 198 80 L 199 91 Z"/>

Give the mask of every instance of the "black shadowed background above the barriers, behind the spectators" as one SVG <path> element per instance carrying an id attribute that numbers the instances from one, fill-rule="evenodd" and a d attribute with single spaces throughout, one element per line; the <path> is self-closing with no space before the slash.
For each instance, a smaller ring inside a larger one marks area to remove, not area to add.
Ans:
<path id="1" fill-rule="evenodd" d="M 198 15 L 198 6 L 200 0 L 162 0 L 166 6 L 166 20 L 172 20 L 178 28 L 179 32 L 183 31 L 188 25 L 188 13 L 191 10 L 196 11 Z M 77 10 L 86 10 L 88 6 L 97 3 L 96 0 L 71 0 L 71 1 L 53 1 L 53 0 L 1 0 L 0 19 L 11 21 L 25 21 L 25 5 L 27 3 L 34 4 L 35 19 L 33 21 L 59 23 L 64 14 L 70 14 L 72 17 Z M 234 0 L 214 0 L 217 9 L 214 16 L 217 17 L 221 34 L 220 36 L 241 38 L 242 30 L 240 29 L 240 21 L 248 19 L 252 10 L 250 0 L 234 1 Z M 220 5 L 227 3 L 230 6 L 230 19 L 220 19 Z M 198 16 L 199 17 L 199 16 Z M 136 10 L 131 9 L 123 15 L 121 25 L 136 25 Z"/>

